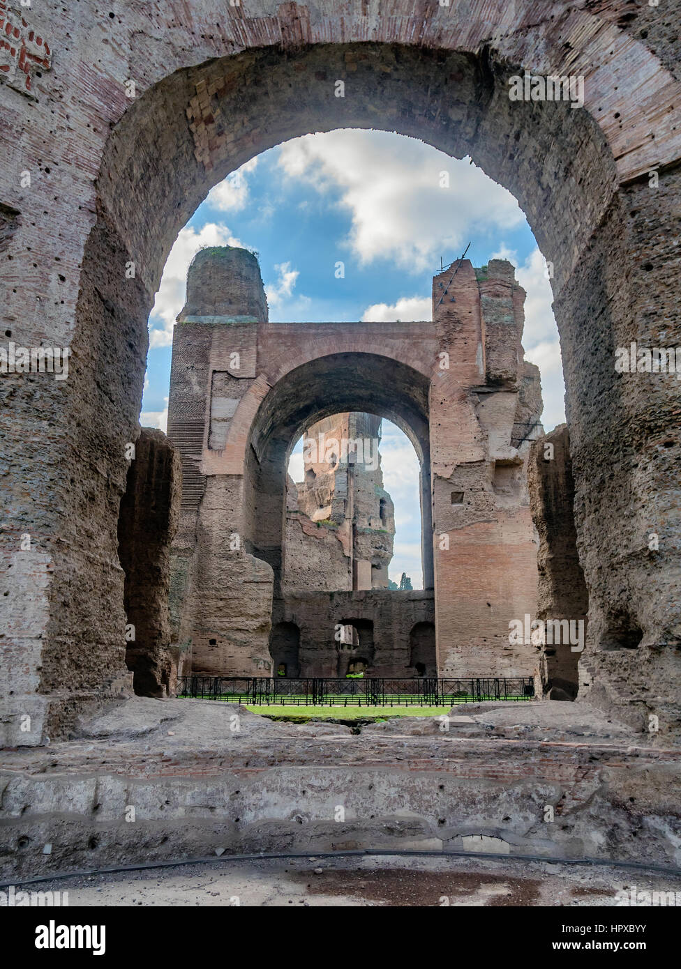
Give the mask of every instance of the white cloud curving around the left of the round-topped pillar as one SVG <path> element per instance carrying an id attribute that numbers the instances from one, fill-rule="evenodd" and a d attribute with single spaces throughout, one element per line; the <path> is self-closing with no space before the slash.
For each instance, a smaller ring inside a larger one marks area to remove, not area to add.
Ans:
<path id="1" fill-rule="evenodd" d="M 186 294 L 187 269 L 192 259 L 205 246 L 236 245 L 243 246 L 225 225 L 209 222 L 200 232 L 185 226 L 178 234 L 175 245 L 170 251 L 168 262 L 163 270 L 161 285 L 149 318 L 149 346 L 169 347 L 173 342 L 173 326 Z M 154 326 L 162 321 L 162 326 Z"/>

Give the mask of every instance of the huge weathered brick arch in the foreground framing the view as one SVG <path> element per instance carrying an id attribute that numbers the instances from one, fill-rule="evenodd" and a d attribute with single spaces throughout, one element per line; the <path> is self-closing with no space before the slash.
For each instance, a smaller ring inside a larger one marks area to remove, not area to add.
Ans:
<path id="1" fill-rule="evenodd" d="M 117 688 L 124 445 L 136 434 L 146 319 L 178 230 L 248 158 L 341 126 L 470 153 L 526 211 L 555 266 L 595 680 L 615 698 L 628 681 L 634 693 L 653 683 L 653 705 L 668 694 L 681 628 L 677 388 L 642 392 L 616 379 L 612 357 L 631 339 L 681 344 L 681 127 L 667 26 L 679 9 L 667 2 L 656 18 L 645 6 L 632 17 L 624 0 L 375 0 L 361 9 L 331 0 L 189 9 L 178 0 L 131 3 L 124 18 L 102 19 L 83 0 L 27 14 L 52 59 L 30 78 L 36 101 L 0 85 L 9 131 L 0 202 L 11 213 L 2 315 L 17 343 L 68 344 L 74 359 L 64 384 L 31 378 L 0 389 L 11 715 L 30 697 L 54 735 L 79 704 Z M 507 78 L 523 68 L 583 74 L 584 109 L 509 102 Z M 338 78 L 344 98 L 334 96 Z M 30 190 L 20 187 L 25 170 Z M 656 556 L 648 531 L 664 536 Z M 17 557 L 23 532 L 34 537 L 28 564 Z M 642 630 L 642 649 L 600 654 L 608 617 L 623 612 Z"/>

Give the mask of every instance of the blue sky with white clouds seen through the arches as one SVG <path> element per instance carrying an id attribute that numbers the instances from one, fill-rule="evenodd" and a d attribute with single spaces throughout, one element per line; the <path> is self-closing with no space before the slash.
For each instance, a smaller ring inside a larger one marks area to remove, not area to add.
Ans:
<path id="1" fill-rule="evenodd" d="M 523 345 L 541 370 L 550 430 L 565 420 L 560 346 L 545 263 L 518 203 L 469 159 L 402 135 L 352 130 L 286 141 L 252 159 L 216 185 L 181 230 L 149 318 L 142 423 L 165 429 L 173 324 L 201 247 L 257 251 L 274 322 L 406 322 L 431 319 L 440 257 L 452 262 L 469 242 L 473 266 L 508 259 L 527 291 Z M 399 580 L 405 571 L 417 588 L 418 462 L 397 427 L 384 421 L 382 434 L 397 525 L 390 575 Z M 298 481 L 299 455 L 300 448 L 291 468 Z"/>

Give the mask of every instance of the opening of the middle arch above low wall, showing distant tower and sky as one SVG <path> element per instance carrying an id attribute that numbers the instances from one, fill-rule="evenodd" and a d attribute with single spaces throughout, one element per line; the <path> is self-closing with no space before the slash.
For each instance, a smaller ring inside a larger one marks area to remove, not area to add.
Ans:
<path id="1" fill-rule="evenodd" d="M 284 588 L 423 588 L 421 467 L 396 424 L 336 414 L 288 462 Z"/>

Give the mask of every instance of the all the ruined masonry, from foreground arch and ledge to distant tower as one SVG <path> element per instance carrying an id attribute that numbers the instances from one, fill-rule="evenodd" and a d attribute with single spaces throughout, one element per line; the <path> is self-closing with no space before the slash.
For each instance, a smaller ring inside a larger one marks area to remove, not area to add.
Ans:
<path id="1" fill-rule="evenodd" d="M 646 355 L 681 347 L 680 20 L 680 0 L 0 0 L 7 877 L 483 837 L 678 864 L 681 384 Z M 182 227 L 259 153 L 349 127 L 470 156 L 517 199 L 565 428 L 540 438 L 509 263 L 455 261 L 432 320 L 276 324 L 256 259 L 220 248 L 189 275 L 167 439 L 141 430 Z M 379 418 L 421 464 L 422 590 L 385 587 L 387 496 L 340 510 L 363 500 L 349 463 L 332 487 L 310 461 L 297 507 L 287 486 L 300 435 Z M 280 668 L 517 674 L 537 699 L 356 735 L 173 697 L 186 672 Z"/>

